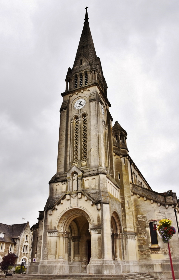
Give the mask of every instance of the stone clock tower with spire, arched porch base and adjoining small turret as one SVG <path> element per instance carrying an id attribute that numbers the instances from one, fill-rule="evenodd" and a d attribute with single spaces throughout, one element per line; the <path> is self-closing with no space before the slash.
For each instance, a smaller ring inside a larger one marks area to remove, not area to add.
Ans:
<path id="1" fill-rule="evenodd" d="M 57 173 L 49 182 L 43 219 L 41 212 L 39 216 L 39 274 L 114 274 L 122 272 L 122 261 L 136 260 L 133 220 L 125 213 L 132 216 L 125 201 L 130 193 L 127 158 L 125 190 L 118 177 L 123 168 L 118 158 L 128 154 L 127 133 L 117 122 L 112 128 L 108 87 L 88 19 L 86 8 L 75 61 L 61 94 Z M 131 204 L 131 198 L 128 201 Z"/>

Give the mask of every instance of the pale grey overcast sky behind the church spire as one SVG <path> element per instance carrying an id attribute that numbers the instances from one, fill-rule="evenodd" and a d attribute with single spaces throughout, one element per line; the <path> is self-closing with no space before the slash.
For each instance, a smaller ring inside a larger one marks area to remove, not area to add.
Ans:
<path id="1" fill-rule="evenodd" d="M 0 0 L 1 223 L 45 206 L 86 6 L 113 124 L 151 188 L 179 196 L 179 1 Z"/>

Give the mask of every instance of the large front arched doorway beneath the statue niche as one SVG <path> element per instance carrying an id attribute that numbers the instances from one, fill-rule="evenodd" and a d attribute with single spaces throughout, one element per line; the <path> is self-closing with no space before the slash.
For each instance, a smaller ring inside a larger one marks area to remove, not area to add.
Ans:
<path id="1" fill-rule="evenodd" d="M 58 230 L 61 234 L 58 258 L 68 260 L 70 273 L 87 272 L 91 258 L 91 227 L 91 219 L 82 209 L 71 209 L 59 220 Z"/>

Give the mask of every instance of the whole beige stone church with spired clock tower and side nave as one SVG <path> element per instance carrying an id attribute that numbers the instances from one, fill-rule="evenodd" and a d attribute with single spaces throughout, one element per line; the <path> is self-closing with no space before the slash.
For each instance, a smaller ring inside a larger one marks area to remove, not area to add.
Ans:
<path id="1" fill-rule="evenodd" d="M 179 278 L 179 205 L 176 193 L 152 190 L 129 155 L 127 132 L 110 114 L 107 83 L 89 18 L 66 89 L 61 93 L 57 173 L 33 225 L 27 273 L 147 272 L 170 279 L 167 244 L 154 224 L 173 221 L 170 241 Z M 119 116 L 120 117 L 120 116 Z"/>

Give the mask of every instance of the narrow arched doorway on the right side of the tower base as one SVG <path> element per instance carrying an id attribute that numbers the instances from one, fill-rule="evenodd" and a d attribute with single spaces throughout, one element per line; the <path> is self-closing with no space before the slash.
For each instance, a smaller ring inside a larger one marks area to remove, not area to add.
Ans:
<path id="1" fill-rule="evenodd" d="M 111 216 L 111 245 L 112 245 L 112 258 L 113 260 L 122 260 L 121 250 L 121 225 L 116 212 Z"/>

